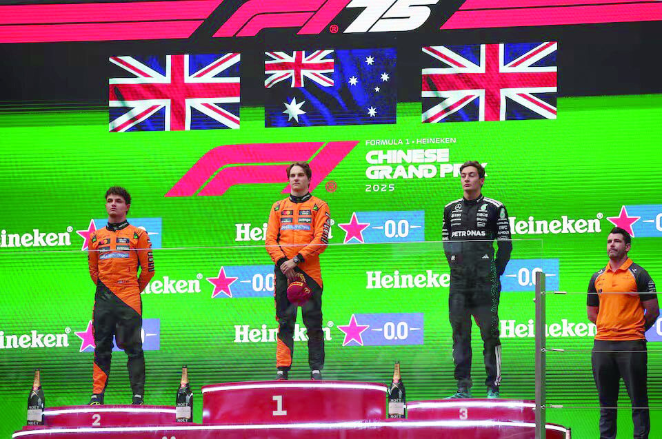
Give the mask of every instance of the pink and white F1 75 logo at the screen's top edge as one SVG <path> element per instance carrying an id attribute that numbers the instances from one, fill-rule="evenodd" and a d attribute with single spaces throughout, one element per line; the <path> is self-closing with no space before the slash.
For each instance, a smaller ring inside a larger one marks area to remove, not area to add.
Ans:
<path id="1" fill-rule="evenodd" d="M 225 21 L 214 37 L 254 37 L 263 29 L 300 28 L 319 34 L 344 8 L 364 8 L 344 33 L 392 32 L 419 28 L 439 0 L 249 0 Z M 338 32 L 337 25 L 330 26 Z"/>

